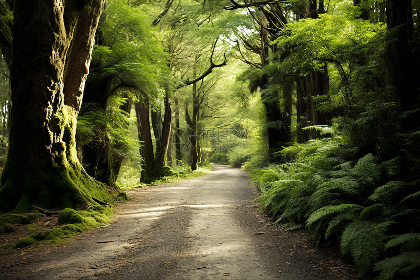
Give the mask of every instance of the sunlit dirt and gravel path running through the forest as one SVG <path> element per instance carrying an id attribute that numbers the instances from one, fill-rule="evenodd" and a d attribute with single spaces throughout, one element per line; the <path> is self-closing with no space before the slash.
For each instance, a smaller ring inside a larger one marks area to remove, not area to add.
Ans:
<path id="1" fill-rule="evenodd" d="M 214 165 L 202 177 L 130 191 L 135 199 L 117 207 L 108 227 L 17 250 L 22 262 L 35 262 L 2 266 L 0 279 L 355 279 L 306 235 L 262 215 L 248 181 L 239 169 Z"/>

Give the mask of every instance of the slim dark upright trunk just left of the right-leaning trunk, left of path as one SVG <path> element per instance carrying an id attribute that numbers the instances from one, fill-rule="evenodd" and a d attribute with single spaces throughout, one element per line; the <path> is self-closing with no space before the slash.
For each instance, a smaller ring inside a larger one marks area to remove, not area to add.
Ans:
<path id="1" fill-rule="evenodd" d="M 139 141 L 141 141 L 140 155 L 144 160 L 140 179 L 142 182 L 145 182 L 153 176 L 154 168 L 153 141 L 150 132 L 149 99 L 147 94 L 144 94 L 139 102 L 134 103 L 134 108 L 136 110 Z"/>

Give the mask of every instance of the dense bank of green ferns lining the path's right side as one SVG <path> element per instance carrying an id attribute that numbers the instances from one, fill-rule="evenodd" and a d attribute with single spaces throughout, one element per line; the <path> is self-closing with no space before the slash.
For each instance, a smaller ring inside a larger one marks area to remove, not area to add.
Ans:
<path id="1" fill-rule="evenodd" d="M 420 279 L 420 180 L 395 180 L 393 160 L 357 158 L 338 136 L 279 155 L 287 163 L 251 176 L 283 229 L 311 229 L 318 246 L 339 246 L 363 279 Z"/>

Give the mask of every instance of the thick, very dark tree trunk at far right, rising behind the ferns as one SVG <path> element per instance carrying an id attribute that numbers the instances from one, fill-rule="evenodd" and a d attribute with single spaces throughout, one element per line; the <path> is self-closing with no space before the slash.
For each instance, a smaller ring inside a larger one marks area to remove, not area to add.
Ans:
<path id="1" fill-rule="evenodd" d="M 418 54 L 413 51 L 414 42 L 410 42 L 414 32 L 411 2 L 409 0 L 387 0 L 386 2 L 388 32 L 386 80 L 394 89 L 400 113 L 404 115 L 399 129 L 402 135 L 418 131 L 420 128 L 420 112 L 418 111 L 420 73 L 417 64 L 418 57 L 416 57 Z M 399 146 L 399 150 L 394 149 L 382 155 L 384 160 L 398 156 L 400 176 L 404 180 L 412 178 L 413 174 L 418 172 L 416 169 L 418 148 L 414 144 L 414 139 L 409 140 L 408 143 L 413 143 L 409 145 L 406 145 L 405 141 L 396 143 L 395 146 Z M 396 151 L 399 151 L 399 154 Z"/>

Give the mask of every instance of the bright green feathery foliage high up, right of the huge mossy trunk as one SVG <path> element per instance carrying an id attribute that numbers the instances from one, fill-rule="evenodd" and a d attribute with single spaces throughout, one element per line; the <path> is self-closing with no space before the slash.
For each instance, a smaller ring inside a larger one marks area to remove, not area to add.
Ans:
<path id="1" fill-rule="evenodd" d="M 104 13 L 106 20 L 98 26 L 101 40 L 92 55 L 92 65 L 98 67 L 91 69 L 88 81 L 111 79 L 111 88 L 125 85 L 140 89 L 152 100 L 161 98 L 158 85 L 170 86 L 172 78 L 167 55 L 153 34 L 148 14 L 123 0 L 110 1 Z"/>

